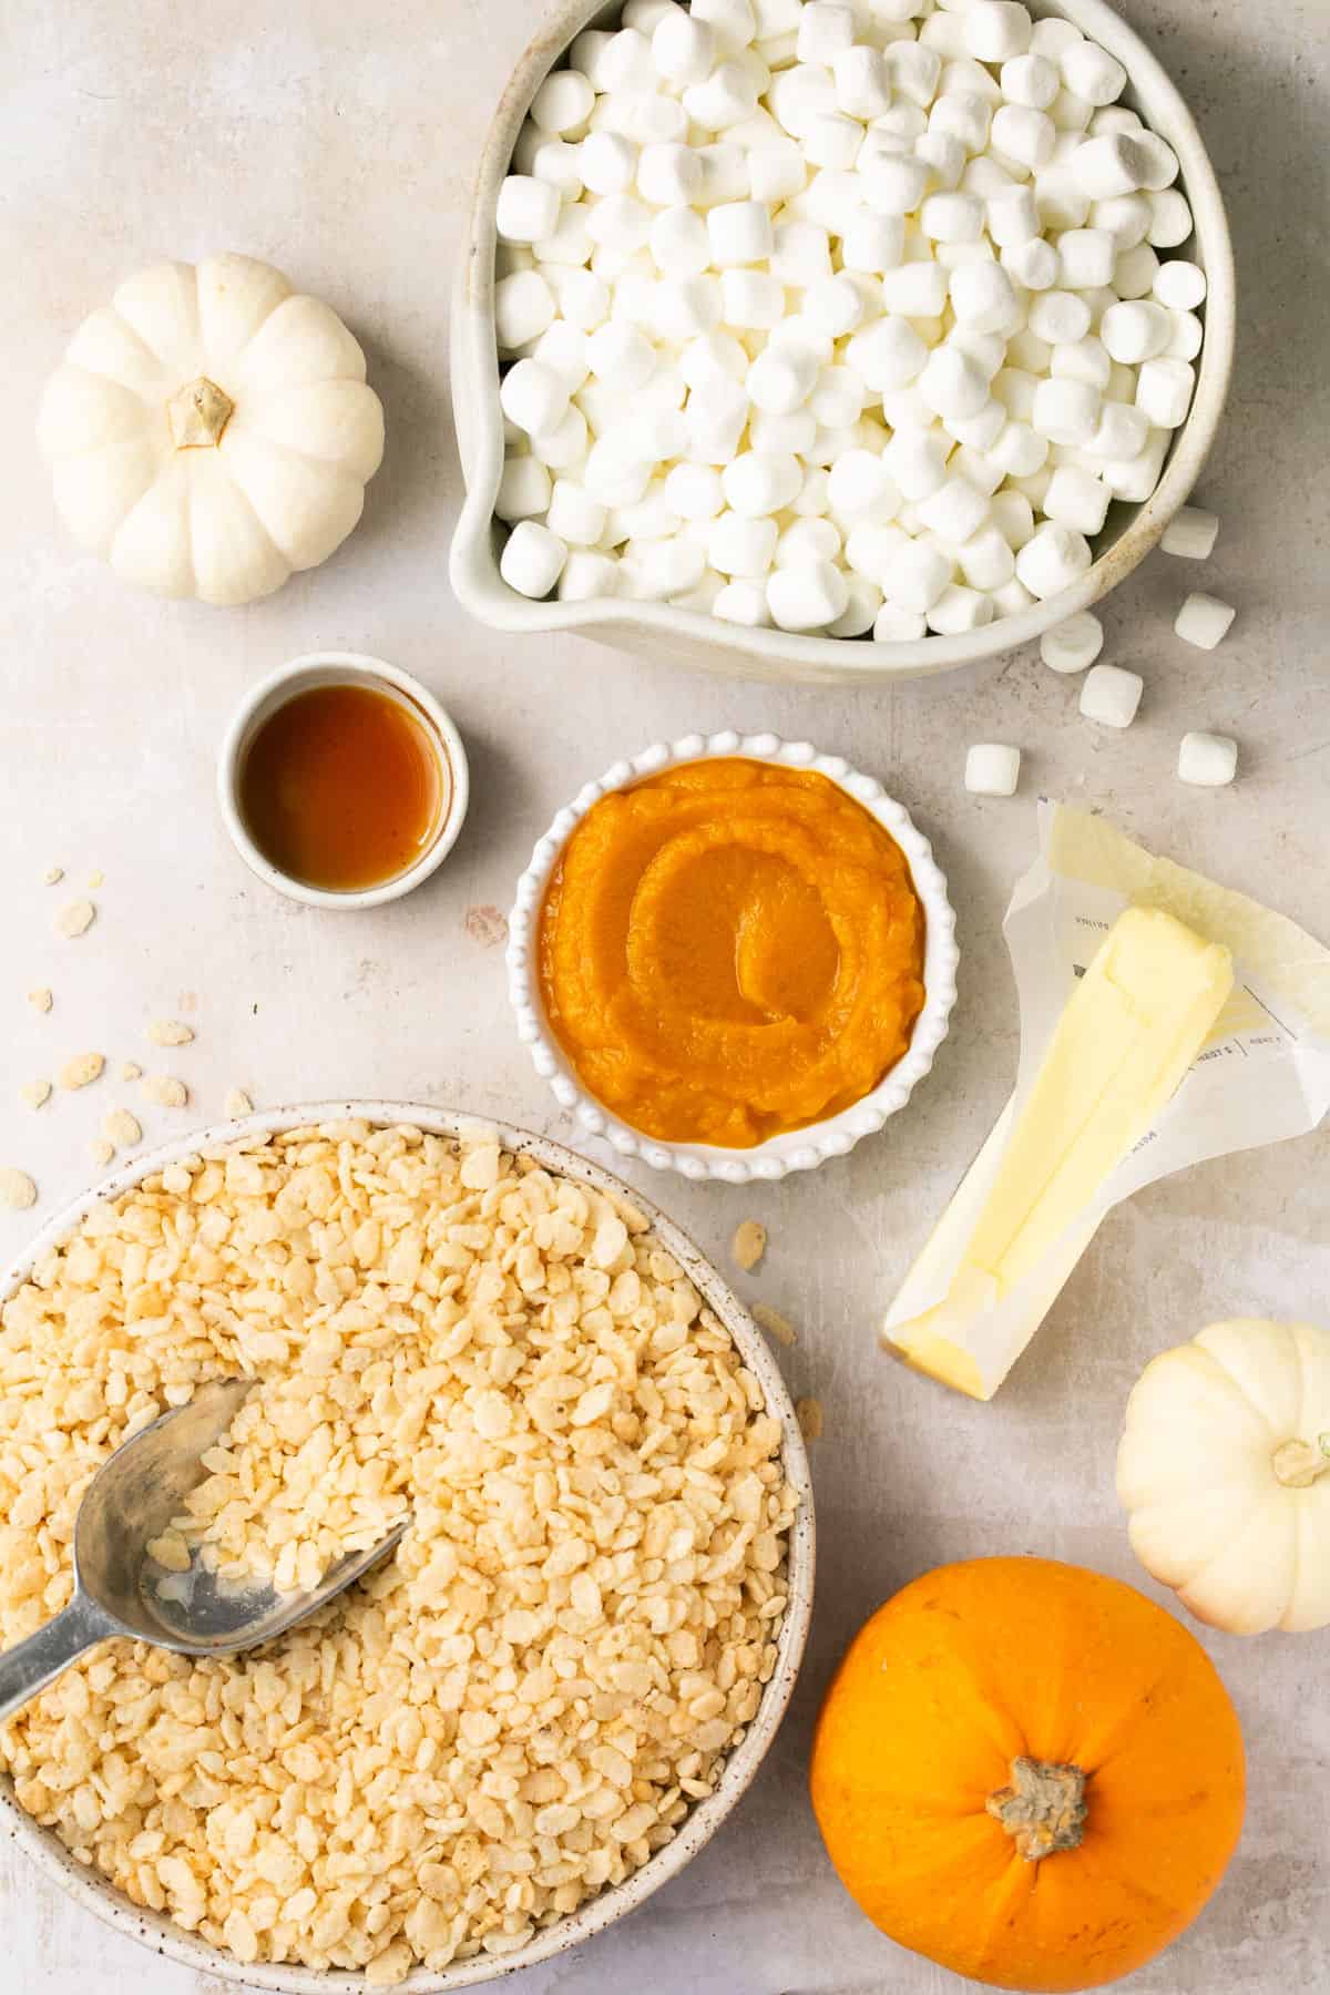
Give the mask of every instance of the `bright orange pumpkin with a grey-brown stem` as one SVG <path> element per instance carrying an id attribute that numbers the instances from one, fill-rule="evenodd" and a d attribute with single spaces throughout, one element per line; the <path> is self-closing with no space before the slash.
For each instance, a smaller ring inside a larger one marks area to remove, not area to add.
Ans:
<path id="1" fill-rule="evenodd" d="M 995 1987 L 1099 1987 L 1196 1917 L 1242 1827 L 1242 1732 L 1180 1622 L 1121 1580 L 975 1558 L 855 1636 L 812 1758 L 873 1925 Z"/>

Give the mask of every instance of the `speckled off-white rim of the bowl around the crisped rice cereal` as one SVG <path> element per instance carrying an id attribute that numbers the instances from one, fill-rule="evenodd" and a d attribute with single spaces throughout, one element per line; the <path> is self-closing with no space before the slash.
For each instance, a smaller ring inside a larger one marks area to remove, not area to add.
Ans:
<path id="1" fill-rule="evenodd" d="M 245 1115 L 243 1121 L 195 1129 L 189 1137 L 179 1137 L 148 1157 L 138 1157 L 124 1171 L 116 1171 L 96 1191 L 84 1193 L 82 1199 L 44 1225 L 22 1259 L 0 1275 L 0 1303 L 8 1301 L 28 1279 L 42 1255 L 56 1247 L 90 1211 L 122 1197 L 134 1185 L 142 1183 L 144 1177 L 152 1177 L 154 1171 L 164 1171 L 167 1165 L 179 1163 L 181 1157 L 207 1155 L 227 1143 L 263 1137 L 275 1129 L 303 1129 L 309 1123 L 345 1121 L 347 1117 L 377 1125 L 411 1123 L 415 1129 L 427 1129 L 433 1135 L 457 1135 L 465 1123 L 485 1121 L 499 1131 L 499 1139 L 506 1149 L 534 1157 L 542 1169 L 580 1177 L 600 1191 L 612 1191 L 618 1197 L 630 1199 L 650 1219 L 662 1247 L 674 1255 L 708 1309 L 716 1311 L 734 1339 L 746 1369 L 762 1387 L 766 1410 L 780 1420 L 786 1480 L 800 1498 L 800 1508 L 790 1528 L 790 1604 L 776 1638 L 776 1670 L 762 1692 L 758 1716 L 720 1772 L 716 1792 L 690 1809 L 674 1841 L 658 1849 L 642 1869 L 626 1877 L 624 1883 L 598 1891 L 596 1897 L 588 1899 L 578 1911 L 568 1913 L 568 1917 L 544 1925 L 518 1953 L 481 1953 L 475 1959 L 457 1961 L 439 1973 L 417 1967 L 399 1983 L 403 1995 L 451 1995 L 453 1989 L 477 1987 L 481 1981 L 499 1981 L 502 1975 L 516 1973 L 520 1967 L 534 1967 L 536 1961 L 548 1961 L 558 1953 L 566 1953 L 568 1947 L 576 1947 L 578 1941 L 590 1939 L 592 1933 L 604 1931 L 606 1925 L 612 1925 L 624 1913 L 644 1903 L 670 1877 L 678 1877 L 698 1849 L 712 1839 L 762 1766 L 786 1716 L 794 1680 L 800 1674 L 800 1660 L 814 1610 L 814 1486 L 800 1422 L 772 1349 L 740 1299 L 688 1235 L 680 1233 L 674 1221 L 666 1219 L 640 1191 L 624 1185 L 574 1151 L 564 1149 L 562 1143 L 530 1135 L 524 1129 L 512 1129 L 506 1123 L 495 1123 L 489 1115 L 461 1115 L 455 1109 L 425 1107 L 413 1101 L 307 1101 L 295 1107 Z M 207 1979 L 209 1985 L 225 1981 L 231 1987 L 265 1989 L 269 1995 L 367 1995 L 367 1981 L 361 1973 L 343 1969 L 323 1973 L 315 1967 L 275 1967 L 263 1961 L 243 1965 L 235 1955 L 209 1947 L 207 1941 L 187 1933 L 164 1913 L 134 1905 L 100 1871 L 78 1863 L 52 1829 L 40 1827 L 18 1805 L 14 1784 L 8 1776 L 0 1776 L 0 1833 L 8 1835 L 10 1841 L 30 1855 L 52 1883 L 68 1891 L 76 1905 L 92 1911 L 116 1931 L 128 1933 L 130 1939 L 138 1939 L 154 1953 L 191 1967 L 201 1977 L 199 1987 Z"/>

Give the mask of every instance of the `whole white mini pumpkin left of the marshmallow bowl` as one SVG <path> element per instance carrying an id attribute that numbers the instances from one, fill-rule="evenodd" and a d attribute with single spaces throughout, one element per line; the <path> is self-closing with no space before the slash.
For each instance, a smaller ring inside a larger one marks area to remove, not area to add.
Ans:
<path id="1" fill-rule="evenodd" d="M 245 255 L 156 263 L 84 319 L 38 443 L 70 533 L 164 597 L 253 602 L 341 547 L 383 459 L 365 355 Z"/>

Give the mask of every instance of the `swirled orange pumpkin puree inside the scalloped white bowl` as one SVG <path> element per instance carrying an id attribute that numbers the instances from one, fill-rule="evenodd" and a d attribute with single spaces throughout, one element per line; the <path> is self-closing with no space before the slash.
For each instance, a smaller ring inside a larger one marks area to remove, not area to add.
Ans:
<path id="1" fill-rule="evenodd" d="M 859 1101 L 923 1005 L 905 856 L 812 770 L 690 762 L 562 850 L 540 994 L 586 1089 L 648 1135 L 748 1149 Z"/>

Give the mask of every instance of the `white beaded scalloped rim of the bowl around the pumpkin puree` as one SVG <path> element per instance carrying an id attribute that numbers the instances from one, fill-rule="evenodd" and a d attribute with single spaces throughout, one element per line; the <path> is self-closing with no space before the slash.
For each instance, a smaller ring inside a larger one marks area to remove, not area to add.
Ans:
<path id="1" fill-rule="evenodd" d="M 620 1121 L 602 1101 L 590 1095 L 576 1067 L 548 1027 L 540 986 L 534 972 L 534 940 L 550 874 L 572 830 L 602 796 L 626 790 L 644 776 L 682 762 L 708 762 L 722 756 L 742 756 L 748 762 L 772 762 L 778 768 L 812 768 L 830 776 L 847 796 L 891 834 L 909 862 L 915 892 L 923 904 L 923 1009 L 915 1019 L 909 1045 L 889 1073 L 861 1101 L 808 1123 L 772 1135 L 752 1149 L 726 1149 L 720 1143 L 662 1143 Z M 955 1003 L 955 914 L 947 898 L 947 882 L 933 858 L 927 838 L 915 830 L 903 804 L 893 802 L 875 776 L 851 768 L 841 756 L 818 754 L 812 742 L 784 742 L 776 734 L 686 734 L 678 742 L 652 742 L 630 762 L 616 762 L 598 782 L 588 782 L 572 802 L 558 812 L 544 838 L 530 854 L 530 866 L 516 882 L 512 914 L 508 916 L 508 998 L 516 1013 L 518 1037 L 530 1047 L 530 1057 L 556 1099 L 576 1117 L 582 1129 L 618 1151 L 620 1157 L 640 1157 L 654 1171 L 678 1171 L 690 1179 L 718 1179 L 724 1185 L 748 1185 L 752 1179 L 788 1177 L 790 1171 L 812 1171 L 830 1157 L 843 1157 L 853 1145 L 905 1107 L 917 1081 L 933 1065 L 937 1047 L 947 1037 L 947 1019 Z"/>

